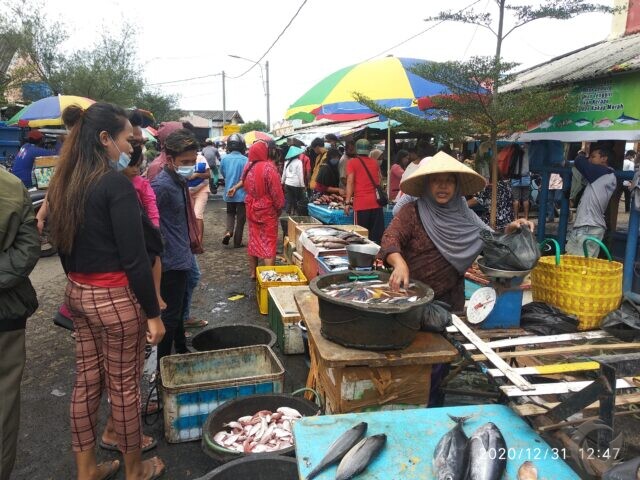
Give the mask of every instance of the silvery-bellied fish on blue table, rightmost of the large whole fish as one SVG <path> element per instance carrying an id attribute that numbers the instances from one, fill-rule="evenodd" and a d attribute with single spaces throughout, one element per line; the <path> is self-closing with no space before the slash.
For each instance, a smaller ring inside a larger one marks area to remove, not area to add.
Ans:
<path id="1" fill-rule="evenodd" d="M 500 429 L 488 422 L 469 438 L 469 480 L 498 480 L 507 466 L 507 444 Z"/>

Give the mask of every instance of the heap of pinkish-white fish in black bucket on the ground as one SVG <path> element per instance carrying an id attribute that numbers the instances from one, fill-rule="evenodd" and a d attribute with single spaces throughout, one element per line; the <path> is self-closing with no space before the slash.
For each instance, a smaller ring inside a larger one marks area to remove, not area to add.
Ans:
<path id="1" fill-rule="evenodd" d="M 224 425 L 213 441 L 240 453 L 276 452 L 293 446 L 293 424 L 302 418 L 294 408 L 280 407 L 275 412 L 260 410 Z"/>

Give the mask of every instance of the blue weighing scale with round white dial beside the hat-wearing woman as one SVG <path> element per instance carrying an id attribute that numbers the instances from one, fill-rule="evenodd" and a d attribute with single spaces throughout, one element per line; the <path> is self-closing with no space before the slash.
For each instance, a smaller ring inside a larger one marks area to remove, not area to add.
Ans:
<path id="1" fill-rule="evenodd" d="M 467 321 L 483 329 L 519 327 L 523 296 L 520 284 L 531 270 L 498 270 L 487 267 L 483 258 L 478 260 L 478 266 L 491 286 L 471 295 Z"/>

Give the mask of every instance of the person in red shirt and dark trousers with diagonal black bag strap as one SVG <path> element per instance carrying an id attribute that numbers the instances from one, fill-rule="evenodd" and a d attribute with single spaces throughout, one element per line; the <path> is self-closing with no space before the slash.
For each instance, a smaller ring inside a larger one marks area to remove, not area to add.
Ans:
<path id="1" fill-rule="evenodd" d="M 380 243 L 384 232 L 384 212 L 376 199 L 376 185 L 380 185 L 378 162 L 367 156 L 371 146 L 361 138 L 356 142 L 356 158 L 347 166 L 345 215 L 349 215 L 353 200 L 354 222 L 369 231 L 369 240 Z"/>

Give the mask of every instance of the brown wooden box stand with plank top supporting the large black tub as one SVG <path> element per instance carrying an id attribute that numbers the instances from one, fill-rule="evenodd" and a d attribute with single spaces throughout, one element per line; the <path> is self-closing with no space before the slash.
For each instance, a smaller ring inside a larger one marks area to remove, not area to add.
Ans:
<path id="1" fill-rule="evenodd" d="M 308 330 L 307 386 L 325 398 L 329 413 L 426 406 L 431 365 L 449 363 L 458 354 L 444 337 L 427 332 L 419 332 L 404 350 L 343 347 L 322 336 L 317 297 L 297 292 L 295 299 Z"/>

